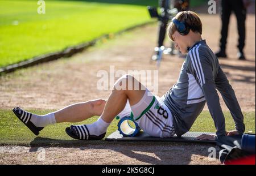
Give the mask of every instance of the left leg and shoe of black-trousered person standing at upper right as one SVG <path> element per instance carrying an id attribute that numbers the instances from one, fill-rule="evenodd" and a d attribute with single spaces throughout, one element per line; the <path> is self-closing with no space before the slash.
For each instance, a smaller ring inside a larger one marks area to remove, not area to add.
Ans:
<path id="1" fill-rule="evenodd" d="M 216 53 L 217 57 L 226 56 L 226 40 L 228 38 L 229 19 L 232 12 L 231 2 L 232 0 L 221 1 L 221 38 L 220 38 L 220 50 Z"/>

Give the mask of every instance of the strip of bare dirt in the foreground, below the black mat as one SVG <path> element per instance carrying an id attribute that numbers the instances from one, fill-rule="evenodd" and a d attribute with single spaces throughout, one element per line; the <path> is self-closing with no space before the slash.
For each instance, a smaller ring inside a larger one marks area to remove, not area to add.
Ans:
<path id="1" fill-rule="evenodd" d="M 220 164 L 216 157 L 208 157 L 218 154 L 214 147 L 168 143 L 108 143 L 79 148 L 2 146 L 0 164 Z"/>

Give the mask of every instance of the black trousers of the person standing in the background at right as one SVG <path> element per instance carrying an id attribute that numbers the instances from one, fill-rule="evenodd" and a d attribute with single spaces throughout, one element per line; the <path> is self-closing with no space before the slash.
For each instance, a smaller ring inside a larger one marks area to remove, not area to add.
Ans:
<path id="1" fill-rule="evenodd" d="M 238 29 L 238 45 L 237 48 L 242 52 L 245 46 L 245 19 L 246 19 L 246 8 L 243 5 L 242 0 L 222 0 L 221 1 L 221 39 L 220 49 L 226 50 L 226 39 L 228 37 L 228 27 L 230 15 L 234 12 L 237 18 L 237 29 Z"/>

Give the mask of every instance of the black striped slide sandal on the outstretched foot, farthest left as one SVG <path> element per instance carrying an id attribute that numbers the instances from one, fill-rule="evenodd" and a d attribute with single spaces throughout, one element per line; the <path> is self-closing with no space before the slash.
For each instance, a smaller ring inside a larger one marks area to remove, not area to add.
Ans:
<path id="1" fill-rule="evenodd" d="M 30 121 L 31 113 L 28 113 L 19 107 L 13 108 L 13 112 L 36 136 L 39 135 L 39 131 L 43 130 L 44 127 L 36 127 L 34 123 Z"/>

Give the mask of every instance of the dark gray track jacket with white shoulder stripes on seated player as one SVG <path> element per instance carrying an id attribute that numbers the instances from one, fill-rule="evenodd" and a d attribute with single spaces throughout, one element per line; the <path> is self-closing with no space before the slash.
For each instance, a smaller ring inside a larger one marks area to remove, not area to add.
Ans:
<path id="1" fill-rule="evenodd" d="M 243 114 L 233 88 L 222 71 L 217 57 L 201 40 L 193 45 L 181 67 L 177 83 L 162 97 L 173 114 L 177 136 L 189 131 L 207 102 L 216 127 L 216 135 L 225 135 L 225 118 L 217 90 L 234 119 L 236 130 L 243 133 Z"/>

